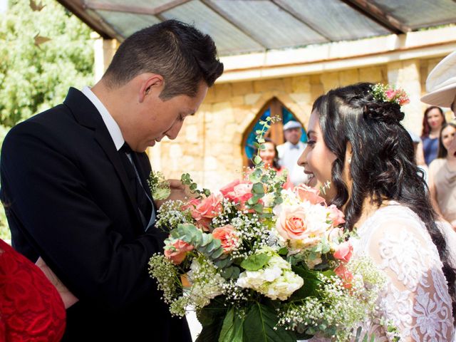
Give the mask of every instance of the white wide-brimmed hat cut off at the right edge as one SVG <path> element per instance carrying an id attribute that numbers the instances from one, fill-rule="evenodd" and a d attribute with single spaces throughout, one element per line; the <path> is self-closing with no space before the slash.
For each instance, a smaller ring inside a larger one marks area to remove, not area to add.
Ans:
<path id="1" fill-rule="evenodd" d="M 432 69 L 426 80 L 427 94 L 424 103 L 450 107 L 456 96 L 456 51 L 442 59 Z"/>

